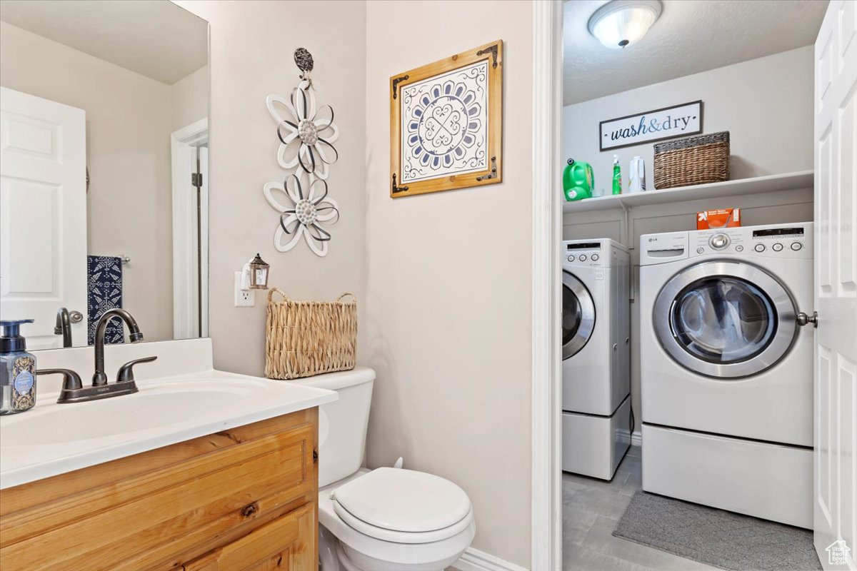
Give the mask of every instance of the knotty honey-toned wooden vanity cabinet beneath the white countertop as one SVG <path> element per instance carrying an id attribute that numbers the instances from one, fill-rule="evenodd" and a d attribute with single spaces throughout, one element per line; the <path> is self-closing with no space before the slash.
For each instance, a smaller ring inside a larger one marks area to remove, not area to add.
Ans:
<path id="1" fill-rule="evenodd" d="M 318 565 L 318 409 L 0 491 L 3 571 Z"/>

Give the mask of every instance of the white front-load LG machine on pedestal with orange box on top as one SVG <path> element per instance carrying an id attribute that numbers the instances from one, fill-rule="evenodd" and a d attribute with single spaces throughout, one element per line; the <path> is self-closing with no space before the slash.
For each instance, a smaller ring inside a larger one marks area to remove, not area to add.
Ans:
<path id="1" fill-rule="evenodd" d="M 643 489 L 812 527 L 812 223 L 640 238 Z"/>

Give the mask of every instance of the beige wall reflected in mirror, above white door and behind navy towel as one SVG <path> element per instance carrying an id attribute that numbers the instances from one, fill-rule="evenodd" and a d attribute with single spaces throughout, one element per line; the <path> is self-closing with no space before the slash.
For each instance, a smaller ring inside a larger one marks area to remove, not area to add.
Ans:
<path id="1" fill-rule="evenodd" d="M 0 84 L 86 111 L 88 253 L 131 258 L 123 306 L 148 340 L 171 339 L 170 86 L 6 22 Z"/>

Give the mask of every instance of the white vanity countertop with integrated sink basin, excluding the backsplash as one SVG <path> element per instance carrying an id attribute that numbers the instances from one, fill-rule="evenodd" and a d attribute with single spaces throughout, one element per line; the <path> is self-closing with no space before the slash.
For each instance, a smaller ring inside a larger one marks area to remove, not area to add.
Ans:
<path id="1" fill-rule="evenodd" d="M 137 381 L 140 392 L 0 418 L 0 488 L 335 401 L 330 390 L 207 371 Z"/>

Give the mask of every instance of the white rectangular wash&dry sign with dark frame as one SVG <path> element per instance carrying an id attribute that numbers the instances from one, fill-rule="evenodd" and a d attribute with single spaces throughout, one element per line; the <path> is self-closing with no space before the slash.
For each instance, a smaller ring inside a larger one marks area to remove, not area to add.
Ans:
<path id="1" fill-rule="evenodd" d="M 599 127 L 602 151 L 702 133 L 702 101 L 609 119 Z"/>

